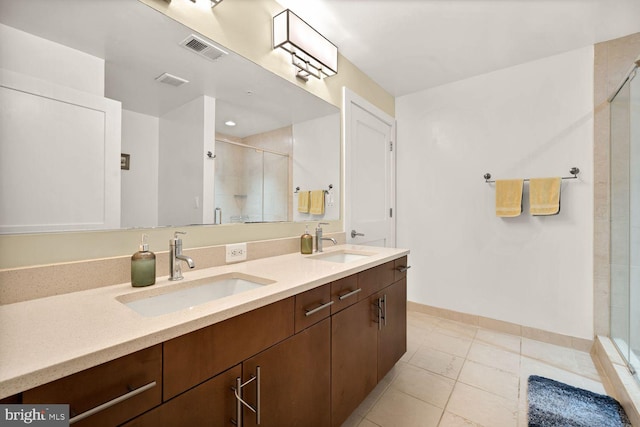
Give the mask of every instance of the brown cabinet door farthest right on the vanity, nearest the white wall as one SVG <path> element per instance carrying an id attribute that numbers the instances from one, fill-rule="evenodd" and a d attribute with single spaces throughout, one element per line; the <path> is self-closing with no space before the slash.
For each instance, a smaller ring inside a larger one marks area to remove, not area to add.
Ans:
<path id="1" fill-rule="evenodd" d="M 395 282 L 378 294 L 382 323 L 378 334 L 378 381 L 407 351 L 407 279 Z"/>

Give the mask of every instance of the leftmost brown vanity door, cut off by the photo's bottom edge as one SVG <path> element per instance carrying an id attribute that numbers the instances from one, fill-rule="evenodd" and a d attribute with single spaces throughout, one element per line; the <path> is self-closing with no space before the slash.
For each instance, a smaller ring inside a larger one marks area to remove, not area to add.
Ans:
<path id="1" fill-rule="evenodd" d="M 241 376 L 241 365 L 165 402 L 124 427 L 233 427 L 236 399 L 232 388 Z"/>

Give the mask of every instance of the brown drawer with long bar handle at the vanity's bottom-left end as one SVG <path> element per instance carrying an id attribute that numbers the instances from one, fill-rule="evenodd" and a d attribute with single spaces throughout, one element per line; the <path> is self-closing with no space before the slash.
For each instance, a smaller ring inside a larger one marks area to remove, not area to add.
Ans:
<path id="1" fill-rule="evenodd" d="M 155 386 L 151 386 L 155 382 Z M 136 390 L 146 391 L 135 394 Z M 143 388 L 145 387 L 145 388 Z M 160 344 L 49 384 L 27 390 L 23 403 L 69 404 L 69 416 L 86 414 L 121 396 L 130 398 L 90 415 L 74 426 L 114 426 L 162 402 Z"/>

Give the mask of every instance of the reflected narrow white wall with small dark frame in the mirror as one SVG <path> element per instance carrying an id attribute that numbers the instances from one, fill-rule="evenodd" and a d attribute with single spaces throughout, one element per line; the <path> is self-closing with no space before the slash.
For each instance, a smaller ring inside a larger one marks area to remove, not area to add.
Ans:
<path id="1" fill-rule="evenodd" d="M 122 170 L 121 226 L 158 225 L 157 117 L 122 110 L 122 152 L 129 154 L 130 168 Z"/>

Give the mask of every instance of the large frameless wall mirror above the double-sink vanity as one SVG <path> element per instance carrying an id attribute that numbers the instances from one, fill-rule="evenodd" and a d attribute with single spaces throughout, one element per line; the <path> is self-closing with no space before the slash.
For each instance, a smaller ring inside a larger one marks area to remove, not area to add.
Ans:
<path id="1" fill-rule="evenodd" d="M 137 0 L 0 24 L 0 232 L 339 219 L 337 107 Z"/>

